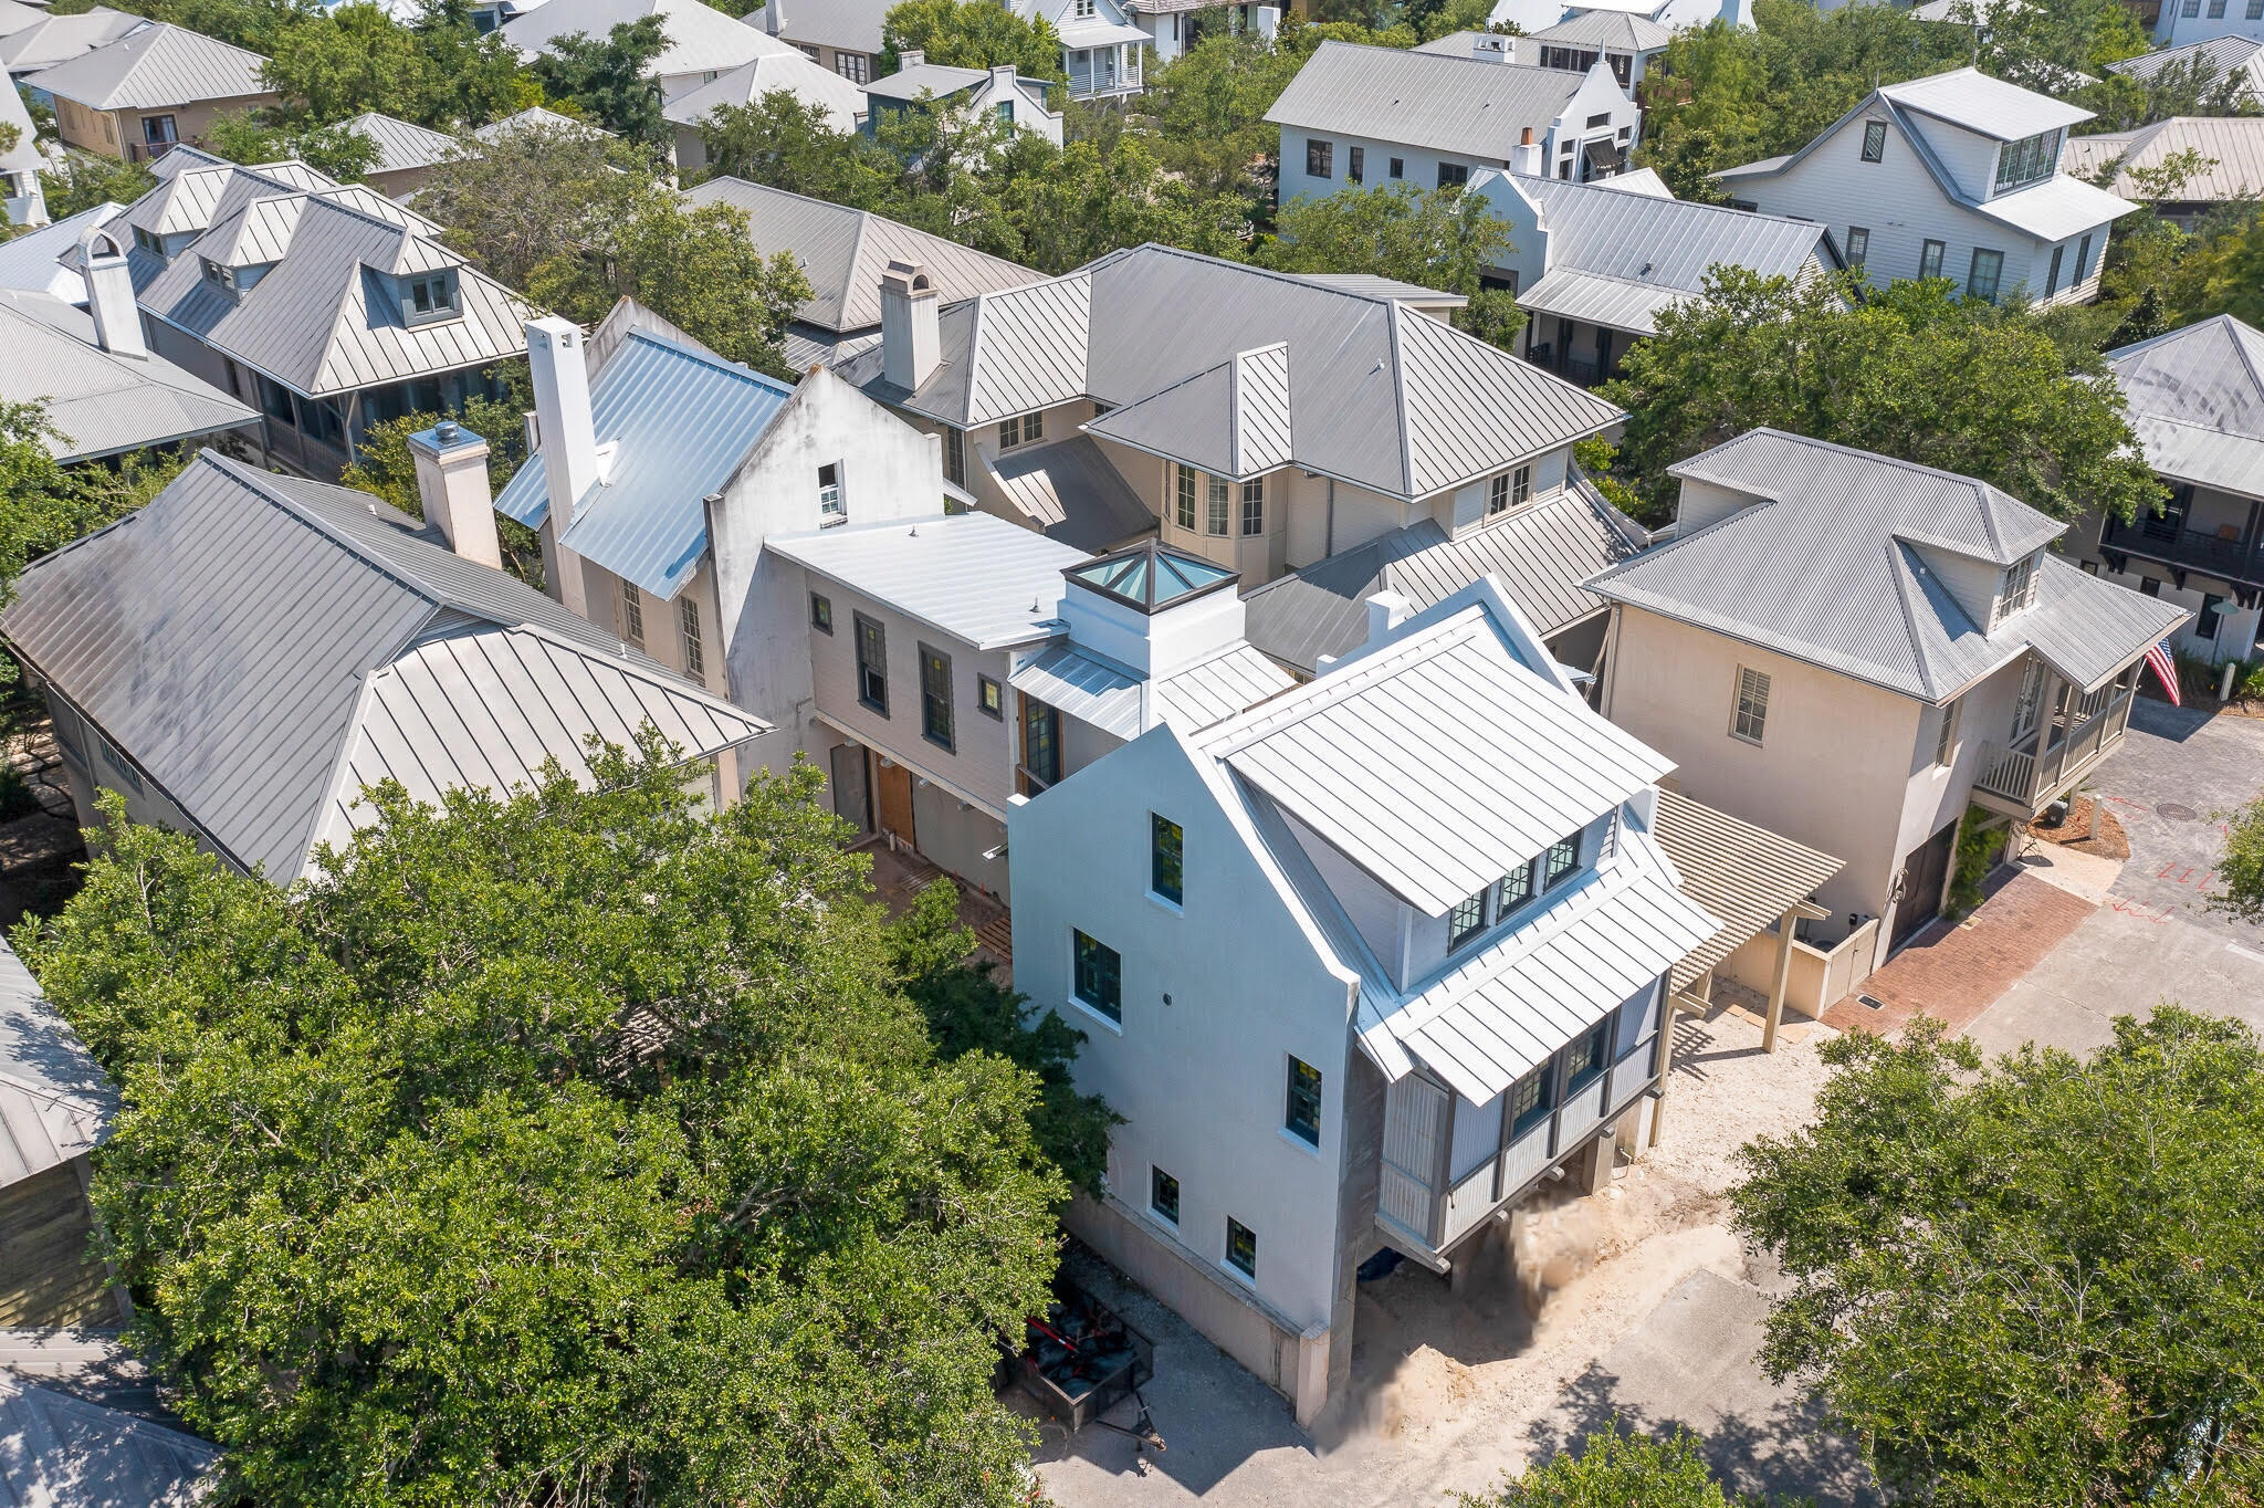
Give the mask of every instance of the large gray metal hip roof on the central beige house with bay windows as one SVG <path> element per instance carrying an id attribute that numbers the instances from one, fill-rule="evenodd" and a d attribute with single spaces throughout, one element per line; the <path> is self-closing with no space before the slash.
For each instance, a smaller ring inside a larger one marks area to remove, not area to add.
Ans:
<path id="1" fill-rule="evenodd" d="M 940 337 L 942 362 L 919 392 L 890 385 L 878 351 L 844 362 L 842 376 L 883 403 L 978 426 L 1080 396 L 1127 408 L 1288 342 L 1290 460 L 1401 498 L 1490 475 L 1626 417 L 1392 299 L 1159 245 L 953 303 Z"/>

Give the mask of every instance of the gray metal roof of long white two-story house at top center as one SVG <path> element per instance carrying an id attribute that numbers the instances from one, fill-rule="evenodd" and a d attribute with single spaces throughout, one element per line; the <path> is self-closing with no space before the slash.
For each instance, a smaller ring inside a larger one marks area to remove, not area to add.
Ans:
<path id="1" fill-rule="evenodd" d="M 1562 68 L 1324 41 L 1266 120 L 1508 161 L 1528 127 L 1535 138 L 1549 134 L 1585 79 Z"/>

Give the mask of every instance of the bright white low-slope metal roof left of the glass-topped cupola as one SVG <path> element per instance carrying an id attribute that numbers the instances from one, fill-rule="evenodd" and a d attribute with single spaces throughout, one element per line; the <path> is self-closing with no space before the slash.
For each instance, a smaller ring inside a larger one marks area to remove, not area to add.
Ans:
<path id="1" fill-rule="evenodd" d="M 844 523 L 772 534 L 763 548 L 978 650 L 1057 634 L 1062 571 L 1084 559 L 992 514 Z"/>

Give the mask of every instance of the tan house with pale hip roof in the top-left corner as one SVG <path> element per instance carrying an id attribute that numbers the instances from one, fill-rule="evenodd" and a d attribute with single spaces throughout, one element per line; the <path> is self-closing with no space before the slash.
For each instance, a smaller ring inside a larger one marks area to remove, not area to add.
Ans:
<path id="1" fill-rule="evenodd" d="M 66 147 L 140 163 L 204 140 L 220 115 L 276 104 L 265 66 L 258 52 L 152 20 L 29 82 L 54 97 Z"/>

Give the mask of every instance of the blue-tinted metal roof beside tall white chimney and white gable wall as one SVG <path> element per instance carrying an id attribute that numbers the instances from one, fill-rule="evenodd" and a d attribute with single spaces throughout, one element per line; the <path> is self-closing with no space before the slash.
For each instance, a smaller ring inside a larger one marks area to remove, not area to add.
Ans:
<path id="1" fill-rule="evenodd" d="M 731 480 L 795 389 L 650 331 L 629 331 L 589 394 L 598 444 L 614 444 L 607 480 L 575 503 L 559 541 L 661 600 L 706 555 L 706 496 Z M 496 509 L 541 528 L 550 482 L 537 451 L 505 482 Z"/>

